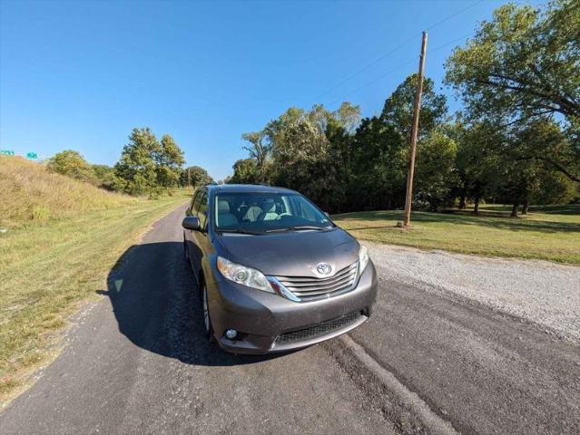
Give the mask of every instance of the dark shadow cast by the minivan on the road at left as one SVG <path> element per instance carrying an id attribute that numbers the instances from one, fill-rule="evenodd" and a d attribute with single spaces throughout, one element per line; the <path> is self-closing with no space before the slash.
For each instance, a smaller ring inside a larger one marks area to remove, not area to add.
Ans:
<path id="1" fill-rule="evenodd" d="M 109 297 L 119 332 L 149 352 L 206 366 L 259 363 L 283 356 L 235 355 L 208 343 L 199 291 L 183 258 L 182 243 L 130 247 L 109 273 L 107 290 L 96 293 Z"/>

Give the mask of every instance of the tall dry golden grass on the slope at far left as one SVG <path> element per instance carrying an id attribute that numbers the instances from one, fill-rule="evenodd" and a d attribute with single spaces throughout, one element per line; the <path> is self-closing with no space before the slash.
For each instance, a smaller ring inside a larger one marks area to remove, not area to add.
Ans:
<path id="1" fill-rule="evenodd" d="M 0 227 L 115 208 L 136 199 L 49 172 L 43 164 L 0 156 Z"/>

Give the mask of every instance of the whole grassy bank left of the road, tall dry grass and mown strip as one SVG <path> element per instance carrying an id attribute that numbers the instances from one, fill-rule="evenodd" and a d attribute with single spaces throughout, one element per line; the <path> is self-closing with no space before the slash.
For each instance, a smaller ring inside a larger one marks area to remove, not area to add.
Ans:
<path id="1" fill-rule="evenodd" d="M 54 358 L 67 318 L 123 251 L 186 197 L 130 198 L 3 156 L 0 192 L 1 406 Z"/>

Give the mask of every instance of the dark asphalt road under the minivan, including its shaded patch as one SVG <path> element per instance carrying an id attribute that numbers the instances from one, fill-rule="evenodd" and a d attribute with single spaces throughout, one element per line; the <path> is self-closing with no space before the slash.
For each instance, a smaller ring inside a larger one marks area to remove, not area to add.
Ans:
<path id="1" fill-rule="evenodd" d="M 442 433 L 437 420 L 580 433 L 578 343 L 395 281 L 379 280 L 373 317 L 349 334 L 366 358 L 342 339 L 274 357 L 209 346 L 181 217 L 157 222 L 95 289 L 103 301 L 0 415 L 0 433 Z"/>

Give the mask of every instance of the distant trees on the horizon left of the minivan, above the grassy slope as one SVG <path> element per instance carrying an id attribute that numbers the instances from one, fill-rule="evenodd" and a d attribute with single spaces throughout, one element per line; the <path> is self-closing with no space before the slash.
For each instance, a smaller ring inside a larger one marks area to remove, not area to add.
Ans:
<path id="1" fill-rule="evenodd" d="M 169 134 L 157 140 L 149 128 L 133 129 L 113 166 L 92 165 L 77 151 L 64 150 L 47 162 L 54 172 L 129 195 L 157 196 L 174 187 L 202 186 L 213 179 L 199 167 L 183 168 L 183 151 Z"/>

